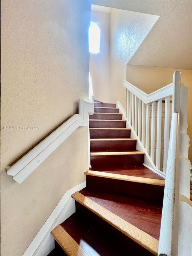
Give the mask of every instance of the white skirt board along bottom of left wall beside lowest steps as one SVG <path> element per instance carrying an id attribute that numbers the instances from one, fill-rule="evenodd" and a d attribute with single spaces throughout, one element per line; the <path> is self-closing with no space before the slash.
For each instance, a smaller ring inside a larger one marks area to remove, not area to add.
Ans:
<path id="1" fill-rule="evenodd" d="M 55 248 L 50 232 L 75 212 L 75 200 L 71 195 L 85 187 L 86 181 L 66 191 L 22 256 L 47 256 Z"/>

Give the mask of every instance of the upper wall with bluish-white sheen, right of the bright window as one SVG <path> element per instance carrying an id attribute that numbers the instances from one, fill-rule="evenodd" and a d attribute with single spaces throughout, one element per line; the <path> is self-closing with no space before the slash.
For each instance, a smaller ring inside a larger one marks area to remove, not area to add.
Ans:
<path id="1" fill-rule="evenodd" d="M 113 9 L 110 26 L 110 101 L 125 107 L 126 65 L 158 19 L 157 16 Z"/>

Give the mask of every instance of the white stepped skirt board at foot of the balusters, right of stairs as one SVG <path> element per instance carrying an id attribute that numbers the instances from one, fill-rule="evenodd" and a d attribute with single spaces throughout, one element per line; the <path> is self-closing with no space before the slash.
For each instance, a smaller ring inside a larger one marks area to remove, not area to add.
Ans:
<path id="1" fill-rule="evenodd" d="M 125 116 L 125 109 L 123 108 L 122 104 L 119 101 L 117 101 L 116 104 L 117 104 L 117 107 L 119 108 L 119 113 L 123 114 L 122 119 L 126 120 L 126 128 L 131 128 L 131 138 L 137 139 L 137 147 L 136 147 L 136 149 L 139 150 L 139 151 L 145 152 L 144 164 L 143 165 L 146 166 L 147 168 L 149 168 L 150 170 L 152 170 L 154 173 L 158 174 L 159 176 L 161 176 L 162 178 L 165 179 L 166 174 L 161 172 L 160 170 L 156 169 L 156 166 L 153 163 L 153 161 L 151 160 L 151 158 L 150 158 L 149 154 L 147 153 L 145 147 L 141 143 L 139 137 L 135 133 L 133 127 L 130 124 L 130 122 L 127 120 L 127 118 Z"/>

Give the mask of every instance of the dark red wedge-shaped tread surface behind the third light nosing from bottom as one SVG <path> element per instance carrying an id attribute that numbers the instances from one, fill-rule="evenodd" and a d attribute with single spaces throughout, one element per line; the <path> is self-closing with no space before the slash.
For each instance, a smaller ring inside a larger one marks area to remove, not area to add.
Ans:
<path id="1" fill-rule="evenodd" d="M 164 178 L 162 178 L 158 174 L 154 173 L 152 170 L 145 167 L 144 165 L 141 165 L 139 167 L 138 166 L 129 166 L 126 169 L 124 167 L 120 168 L 119 166 L 113 166 L 113 167 L 100 166 L 99 169 L 89 168 L 89 170 L 164 180 Z"/>

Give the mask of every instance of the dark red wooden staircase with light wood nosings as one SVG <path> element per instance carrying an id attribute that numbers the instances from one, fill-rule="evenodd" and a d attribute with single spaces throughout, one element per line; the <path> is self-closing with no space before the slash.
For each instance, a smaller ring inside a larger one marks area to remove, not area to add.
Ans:
<path id="1" fill-rule="evenodd" d="M 158 255 L 164 179 L 143 166 L 116 104 L 95 102 L 89 126 L 87 186 L 71 195 L 76 212 L 52 230 L 50 255 Z"/>

